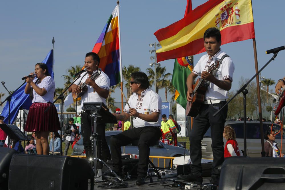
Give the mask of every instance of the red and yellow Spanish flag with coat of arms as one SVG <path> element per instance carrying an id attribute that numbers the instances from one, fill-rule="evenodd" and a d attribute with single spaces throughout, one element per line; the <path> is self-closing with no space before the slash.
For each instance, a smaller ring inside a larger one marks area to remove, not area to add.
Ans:
<path id="1" fill-rule="evenodd" d="M 251 0 L 211 0 L 183 19 L 157 30 L 162 48 L 157 62 L 205 52 L 203 35 L 211 27 L 221 31 L 222 44 L 255 38 Z"/>

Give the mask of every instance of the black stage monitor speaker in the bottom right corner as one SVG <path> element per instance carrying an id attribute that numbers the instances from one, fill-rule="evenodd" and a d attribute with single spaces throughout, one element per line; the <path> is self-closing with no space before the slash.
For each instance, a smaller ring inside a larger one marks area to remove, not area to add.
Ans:
<path id="1" fill-rule="evenodd" d="M 221 167 L 219 189 L 284 189 L 285 158 L 229 158 Z"/>

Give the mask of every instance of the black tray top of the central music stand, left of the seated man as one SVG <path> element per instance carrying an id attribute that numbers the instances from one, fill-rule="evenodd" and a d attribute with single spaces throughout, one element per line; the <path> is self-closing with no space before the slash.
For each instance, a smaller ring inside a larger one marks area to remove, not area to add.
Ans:
<path id="1" fill-rule="evenodd" d="M 116 117 L 109 112 L 109 108 L 103 102 L 83 103 L 82 110 L 89 112 L 97 112 L 97 121 L 101 123 L 117 123 Z"/>

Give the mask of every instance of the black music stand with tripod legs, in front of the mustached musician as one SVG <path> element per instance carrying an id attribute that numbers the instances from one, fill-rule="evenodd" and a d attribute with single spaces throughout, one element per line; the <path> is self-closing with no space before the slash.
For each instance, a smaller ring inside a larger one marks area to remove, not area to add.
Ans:
<path id="1" fill-rule="evenodd" d="M 123 182 L 123 179 L 115 173 L 103 160 L 97 158 L 97 133 L 96 133 L 96 127 L 97 127 L 97 121 L 100 121 L 102 123 L 117 123 L 116 117 L 109 112 L 109 108 L 102 102 L 89 102 L 89 103 L 83 103 L 82 110 L 86 113 L 89 113 L 91 117 L 94 118 L 94 125 L 93 125 L 93 134 L 91 135 L 91 139 L 93 141 L 93 171 L 95 173 L 95 178 L 101 178 L 102 175 L 107 173 L 105 171 L 104 173 L 97 176 L 97 160 L 101 163 L 103 163 L 111 173 L 119 179 L 119 181 Z M 97 181 L 95 179 L 95 181 Z M 91 189 L 94 184 L 94 181 L 91 181 Z"/>

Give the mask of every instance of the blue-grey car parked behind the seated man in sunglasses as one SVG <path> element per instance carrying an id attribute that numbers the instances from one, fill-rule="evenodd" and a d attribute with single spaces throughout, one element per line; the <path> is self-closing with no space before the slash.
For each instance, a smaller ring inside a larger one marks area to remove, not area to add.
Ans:
<path id="1" fill-rule="evenodd" d="M 110 148 L 110 139 L 112 136 L 121 133 L 122 131 L 106 131 L 106 141 Z M 182 148 L 182 145 L 178 143 L 179 146 L 171 146 L 168 144 L 164 144 L 162 142 L 159 142 L 156 146 L 150 146 L 150 156 L 168 156 L 168 157 L 178 157 L 178 156 L 189 156 L 189 150 L 186 150 L 185 148 Z M 123 147 L 121 147 L 122 153 L 123 153 Z M 131 144 L 128 144 L 125 146 L 125 153 L 126 154 L 139 154 L 139 148 L 137 146 L 132 146 Z M 74 145 L 73 152 L 71 155 L 77 156 L 85 156 L 84 154 L 84 146 L 83 146 L 83 139 L 79 139 L 79 141 Z M 151 158 L 150 158 L 151 160 Z M 153 164 L 157 166 L 157 158 L 153 158 Z M 166 167 L 170 166 L 170 160 L 165 160 Z M 164 167 L 164 159 L 159 159 L 159 167 Z"/>

